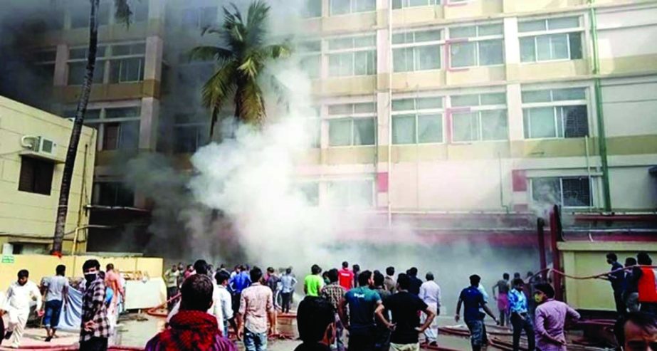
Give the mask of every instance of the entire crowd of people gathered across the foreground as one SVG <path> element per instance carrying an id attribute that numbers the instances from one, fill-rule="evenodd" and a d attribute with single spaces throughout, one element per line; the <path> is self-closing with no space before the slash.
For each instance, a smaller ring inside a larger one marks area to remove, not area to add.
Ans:
<path id="1" fill-rule="evenodd" d="M 657 281 L 650 256 L 638 253 L 636 260 L 627 258 L 625 266 L 614 253 L 606 258 L 611 271 L 601 278 L 610 281 L 614 290 L 619 345 L 626 350 L 656 350 Z M 33 303 L 43 316 L 46 341 L 56 337 L 62 305 L 76 289 L 82 294 L 80 350 L 107 350 L 117 325 L 118 304 L 125 300 L 122 276 L 111 263 L 101 271 L 93 259 L 83 264 L 84 279 L 78 283 L 69 283 L 65 270 L 57 266 L 56 274 L 43 278 L 40 285 L 29 280 L 28 271 L 18 272 L 6 301 L 0 301 L 0 315 L 8 317 L 6 332 L 0 318 L 0 335 L 11 339 L 11 347 L 20 346 Z M 382 273 L 361 271 L 347 262 L 327 271 L 312 265 L 301 281 L 305 297 L 298 303 L 296 318 L 302 343 L 295 351 L 415 351 L 420 350 L 422 335 L 426 345 L 437 345 L 441 287 L 433 273 L 426 273 L 424 281 L 418 273 L 415 267 L 396 274 L 392 266 Z M 147 351 L 237 350 L 228 338 L 231 334 L 247 351 L 266 351 L 268 337 L 278 335 L 277 311 L 290 313 L 299 283 L 293 268 L 262 271 L 240 265 L 228 271 L 221 265 L 215 271 L 204 260 L 173 265 L 164 279 L 169 295 L 167 327 L 147 342 Z M 467 326 L 472 350 L 488 344 L 486 315 L 501 327 L 510 324 L 513 350 L 520 350 L 523 332 L 527 350 L 567 350 L 565 325 L 580 315 L 555 300 L 556 292 L 545 275 L 528 272 L 523 280 L 520 273 L 513 279 L 504 273 L 491 289 L 497 313 L 488 305 L 481 280 L 476 274 L 469 277 L 458 294 L 454 315 L 457 323 L 462 319 Z"/>

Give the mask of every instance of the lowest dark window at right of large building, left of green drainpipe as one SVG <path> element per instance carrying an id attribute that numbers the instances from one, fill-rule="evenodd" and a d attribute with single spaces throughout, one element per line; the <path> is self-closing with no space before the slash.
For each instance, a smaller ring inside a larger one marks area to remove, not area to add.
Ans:
<path id="1" fill-rule="evenodd" d="M 588 177 L 534 178 L 532 199 L 538 203 L 564 207 L 590 207 L 591 184 Z"/>

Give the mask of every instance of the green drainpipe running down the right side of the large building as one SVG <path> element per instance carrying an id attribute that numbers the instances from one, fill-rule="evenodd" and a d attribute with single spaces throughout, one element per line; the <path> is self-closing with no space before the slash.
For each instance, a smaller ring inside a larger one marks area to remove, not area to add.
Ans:
<path id="1" fill-rule="evenodd" d="M 604 196 L 604 211 L 611 211 L 611 191 L 609 188 L 609 162 L 607 160 L 606 135 L 604 130 L 604 112 L 602 110 L 602 86 L 599 78 L 600 56 L 598 52 L 598 24 L 596 19 L 595 0 L 588 0 L 589 21 L 591 21 L 591 36 L 593 42 L 593 75 L 596 117 L 598 122 L 598 145 L 602 163 L 602 193 Z"/>

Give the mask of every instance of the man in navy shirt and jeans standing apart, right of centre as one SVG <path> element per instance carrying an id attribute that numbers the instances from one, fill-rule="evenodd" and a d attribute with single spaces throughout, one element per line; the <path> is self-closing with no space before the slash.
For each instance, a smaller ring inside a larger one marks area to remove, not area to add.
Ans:
<path id="1" fill-rule="evenodd" d="M 485 313 L 495 320 L 495 323 L 498 322 L 493 311 L 486 305 L 483 294 L 479 290 L 480 281 L 480 276 L 476 274 L 470 276 L 470 286 L 461 291 L 456 305 L 456 315 L 454 316 L 454 320 L 458 322 L 461 319 L 461 305 L 465 305 L 463 320 L 466 321 L 466 325 L 470 330 L 470 342 L 473 351 L 481 350 L 484 340 L 483 318 L 485 315 L 479 312 L 479 308 L 483 308 Z"/>

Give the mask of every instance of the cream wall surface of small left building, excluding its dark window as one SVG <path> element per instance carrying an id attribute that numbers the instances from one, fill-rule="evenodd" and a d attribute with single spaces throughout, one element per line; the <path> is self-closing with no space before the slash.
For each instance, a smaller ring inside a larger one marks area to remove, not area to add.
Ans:
<path id="1" fill-rule="evenodd" d="M 62 117 L 0 97 L 0 242 L 51 243 L 63 159 L 72 127 L 73 122 Z M 62 162 L 54 166 L 50 195 L 19 191 L 21 157 L 26 157 L 21 156 L 24 135 L 43 136 L 56 142 L 56 158 Z M 95 130 L 83 127 L 68 202 L 67 232 L 88 224 L 81 209 L 91 197 L 94 157 Z M 83 216 L 78 218 L 80 213 Z"/>

